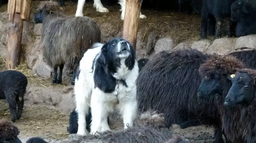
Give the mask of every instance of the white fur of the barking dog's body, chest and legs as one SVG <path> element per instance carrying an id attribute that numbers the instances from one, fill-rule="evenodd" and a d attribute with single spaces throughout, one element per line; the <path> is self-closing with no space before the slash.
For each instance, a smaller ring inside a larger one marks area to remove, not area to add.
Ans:
<path id="1" fill-rule="evenodd" d="M 134 68 L 128 71 L 128 68 L 124 64 L 125 60 L 121 59 L 121 67 L 118 69 L 118 73 L 113 75 L 116 79 L 124 79 L 128 88 L 118 83 L 113 93 L 104 93 L 99 88 L 94 89 L 94 72 L 91 69 L 93 59 L 100 50 L 101 47 L 87 50 L 80 61 L 79 79 L 77 80 L 76 78 L 75 80 L 74 94 L 76 111 L 78 112 L 77 134 L 80 135 L 87 134 L 85 115 L 88 112 L 89 106 L 91 107 L 92 113 L 90 134 L 96 133 L 96 131 L 110 130 L 107 117 L 110 112 L 114 111 L 115 107 L 119 109 L 120 114 L 123 116 L 124 129 L 127 128 L 127 123 L 132 127 L 134 119 L 137 116 L 135 84 L 139 74 L 137 61 L 135 62 Z"/>

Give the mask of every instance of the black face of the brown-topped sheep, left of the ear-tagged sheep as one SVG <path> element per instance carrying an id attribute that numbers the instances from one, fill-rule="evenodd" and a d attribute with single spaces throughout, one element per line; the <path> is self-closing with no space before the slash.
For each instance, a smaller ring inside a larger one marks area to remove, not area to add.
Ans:
<path id="1" fill-rule="evenodd" d="M 197 97 L 201 99 L 208 99 L 210 95 L 220 94 L 223 91 L 223 75 L 220 73 L 213 73 L 204 76 L 198 90 Z"/>

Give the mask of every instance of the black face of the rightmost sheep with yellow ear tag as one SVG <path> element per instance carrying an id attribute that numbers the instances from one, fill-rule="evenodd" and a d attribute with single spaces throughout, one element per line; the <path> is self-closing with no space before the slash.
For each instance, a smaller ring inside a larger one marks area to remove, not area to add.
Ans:
<path id="1" fill-rule="evenodd" d="M 252 87 L 254 80 L 248 73 L 241 72 L 237 72 L 229 79 L 232 81 L 232 86 L 225 98 L 224 105 L 234 107 L 238 104 L 249 104 L 254 97 Z"/>

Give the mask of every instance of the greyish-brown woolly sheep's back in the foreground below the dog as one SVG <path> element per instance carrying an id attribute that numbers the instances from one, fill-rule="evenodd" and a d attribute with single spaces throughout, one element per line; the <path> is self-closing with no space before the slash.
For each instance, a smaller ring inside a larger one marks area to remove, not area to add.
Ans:
<path id="1" fill-rule="evenodd" d="M 157 112 L 147 111 L 140 115 L 138 126 L 126 130 L 105 131 L 97 135 L 76 136 L 63 143 L 190 143 L 179 135 L 172 135 L 165 127 L 165 117 Z"/>

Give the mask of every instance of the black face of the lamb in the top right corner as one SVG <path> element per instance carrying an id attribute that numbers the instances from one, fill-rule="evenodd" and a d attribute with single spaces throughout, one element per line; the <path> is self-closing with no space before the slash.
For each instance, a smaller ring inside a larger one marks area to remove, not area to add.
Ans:
<path id="1" fill-rule="evenodd" d="M 233 22 L 240 21 L 252 11 L 252 8 L 250 7 L 249 4 L 240 0 L 234 2 L 231 5 L 230 9 L 231 9 L 231 21 Z"/>

